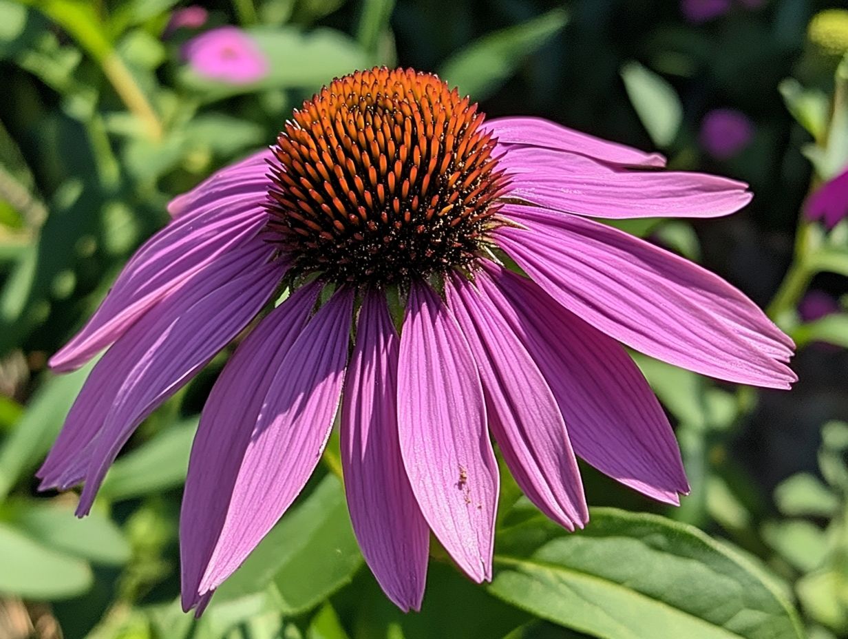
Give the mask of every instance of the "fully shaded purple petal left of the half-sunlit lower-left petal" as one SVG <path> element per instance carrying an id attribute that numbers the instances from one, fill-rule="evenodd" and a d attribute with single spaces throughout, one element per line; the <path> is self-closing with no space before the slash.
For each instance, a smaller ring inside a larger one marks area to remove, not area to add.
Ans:
<path id="1" fill-rule="evenodd" d="M 320 285 L 292 294 L 238 346 L 209 393 L 188 461 L 180 513 L 182 608 L 198 587 L 226 521 L 244 453 L 274 373 L 309 321 Z"/>

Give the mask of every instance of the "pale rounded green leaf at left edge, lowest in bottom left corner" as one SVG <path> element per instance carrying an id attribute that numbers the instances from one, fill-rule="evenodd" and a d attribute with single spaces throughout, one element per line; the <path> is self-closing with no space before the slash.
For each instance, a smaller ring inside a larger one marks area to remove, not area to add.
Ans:
<path id="1" fill-rule="evenodd" d="M 0 524 L 0 592 L 33 599 L 61 599 L 85 592 L 92 572 L 70 558 Z"/>

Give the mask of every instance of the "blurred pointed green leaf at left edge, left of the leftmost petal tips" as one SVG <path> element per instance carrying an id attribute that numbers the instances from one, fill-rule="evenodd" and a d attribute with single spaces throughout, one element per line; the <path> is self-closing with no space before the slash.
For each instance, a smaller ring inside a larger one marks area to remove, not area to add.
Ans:
<path id="1" fill-rule="evenodd" d="M 23 418 L 0 446 L 0 498 L 8 495 L 20 475 L 31 470 L 53 443 L 64 418 L 93 364 L 47 378 Z"/>

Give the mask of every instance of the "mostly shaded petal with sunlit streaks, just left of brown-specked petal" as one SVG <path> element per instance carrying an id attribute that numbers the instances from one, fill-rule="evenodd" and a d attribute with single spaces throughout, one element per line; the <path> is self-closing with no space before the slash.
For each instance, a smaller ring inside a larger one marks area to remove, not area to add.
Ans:
<path id="1" fill-rule="evenodd" d="M 430 530 L 400 457 L 399 338 L 382 293 L 365 295 L 342 406 L 341 449 L 350 518 L 362 554 L 399 608 L 421 608 Z"/>

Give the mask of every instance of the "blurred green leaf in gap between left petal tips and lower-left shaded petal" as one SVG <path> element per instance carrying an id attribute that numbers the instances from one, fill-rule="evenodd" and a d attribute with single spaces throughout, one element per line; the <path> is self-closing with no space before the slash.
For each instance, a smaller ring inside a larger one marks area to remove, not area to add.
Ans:
<path id="1" fill-rule="evenodd" d="M 186 479 L 197 419 L 175 424 L 114 462 L 100 494 L 114 500 L 179 486 Z"/>

